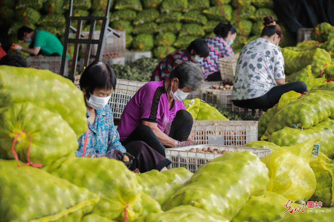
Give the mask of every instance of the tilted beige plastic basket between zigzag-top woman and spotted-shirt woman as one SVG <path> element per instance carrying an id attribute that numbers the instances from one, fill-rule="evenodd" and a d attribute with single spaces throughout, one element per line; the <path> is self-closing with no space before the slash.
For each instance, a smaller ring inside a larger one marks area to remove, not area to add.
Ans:
<path id="1" fill-rule="evenodd" d="M 222 81 L 232 85 L 234 82 L 236 62 L 238 61 L 238 58 L 239 54 L 218 59 L 219 71 Z"/>

